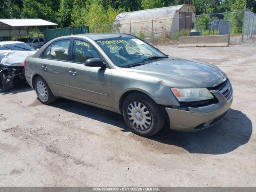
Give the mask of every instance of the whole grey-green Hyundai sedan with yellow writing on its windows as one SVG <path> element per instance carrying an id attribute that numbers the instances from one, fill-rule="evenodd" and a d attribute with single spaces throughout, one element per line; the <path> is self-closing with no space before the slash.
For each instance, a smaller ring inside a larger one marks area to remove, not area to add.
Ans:
<path id="1" fill-rule="evenodd" d="M 127 34 L 56 38 L 25 60 L 43 104 L 67 98 L 117 112 L 132 132 L 198 131 L 226 116 L 233 91 L 218 67 L 175 58 Z"/>

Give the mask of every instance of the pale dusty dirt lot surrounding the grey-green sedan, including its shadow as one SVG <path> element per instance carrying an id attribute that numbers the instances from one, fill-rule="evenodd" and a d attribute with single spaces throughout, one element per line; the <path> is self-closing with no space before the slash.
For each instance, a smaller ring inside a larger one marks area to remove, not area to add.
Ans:
<path id="1" fill-rule="evenodd" d="M 234 102 L 222 122 L 142 138 L 113 112 L 0 91 L 0 186 L 256 186 L 256 43 L 158 47 L 226 72 Z"/>

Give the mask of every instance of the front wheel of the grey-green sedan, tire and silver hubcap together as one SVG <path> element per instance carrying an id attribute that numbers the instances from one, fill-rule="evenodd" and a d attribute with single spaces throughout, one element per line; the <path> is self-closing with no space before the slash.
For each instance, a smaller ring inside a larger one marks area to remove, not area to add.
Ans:
<path id="1" fill-rule="evenodd" d="M 152 136 L 164 126 L 165 119 L 159 106 L 143 93 L 128 95 L 122 112 L 128 127 L 140 136 Z"/>

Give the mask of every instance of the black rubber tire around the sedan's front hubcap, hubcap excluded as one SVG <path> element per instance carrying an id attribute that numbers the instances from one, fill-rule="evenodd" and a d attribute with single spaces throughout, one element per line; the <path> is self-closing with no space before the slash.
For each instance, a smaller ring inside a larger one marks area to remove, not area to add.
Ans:
<path id="1" fill-rule="evenodd" d="M 148 128 L 144 127 L 145 130 L 140 130 L 140 127 L 139 129 L 136 128 L 135 125 L 132 125 L 133 122 L 129 120 L 128 106 L 132 102 L 140 102 L 141 104 L 143 104 L 143 106 L 146 106 L 147 110 L 150 112 L 151 124 Z M 125 98 L 122 106 L 122 113 L 128 127 L 132 130 L 132 132 L 140 136 L 152 136 L 160 131 L 164 126 L 165 119 L 158 104 L 156 104 L 154 100 L 152 100 L 149 96 L 140 92 L 129 94 Z"/>

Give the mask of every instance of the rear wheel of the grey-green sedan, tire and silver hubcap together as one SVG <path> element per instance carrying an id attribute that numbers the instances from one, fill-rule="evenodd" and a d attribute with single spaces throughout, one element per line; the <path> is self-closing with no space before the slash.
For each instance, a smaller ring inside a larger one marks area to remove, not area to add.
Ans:
<path id="1" fill-rule="evenodd" d="M 38 100 L 40 100 L 40 102 L 43 104 L 51 104 L 56 101 L 57 98 L 52 94 L 48 84 L 42 77 L 38 76 L 36 78 L 34 87 L 38 96 Z"/>

